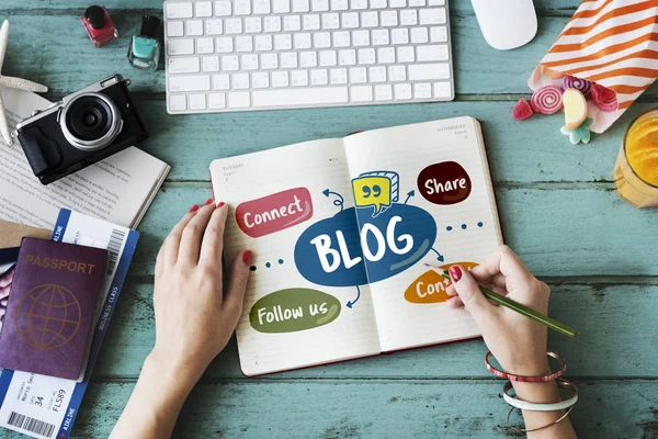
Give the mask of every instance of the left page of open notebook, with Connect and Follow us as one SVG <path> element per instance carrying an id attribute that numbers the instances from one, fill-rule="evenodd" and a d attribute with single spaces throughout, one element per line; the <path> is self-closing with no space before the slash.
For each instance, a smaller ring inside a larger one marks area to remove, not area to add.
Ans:
<path id="1" fill-rule="evenodd" d="M 237 328 L 242 373 L 379 353 L 342 142 L 215 160 L 211 177 L 230 209 L 227 260 L 253 252 Z"/>

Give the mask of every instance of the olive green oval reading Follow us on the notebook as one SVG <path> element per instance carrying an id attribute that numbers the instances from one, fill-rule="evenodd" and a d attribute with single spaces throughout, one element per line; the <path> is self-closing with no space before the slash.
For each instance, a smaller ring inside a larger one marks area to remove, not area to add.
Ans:
<path id="1" fill-rule="evenodd" d="M 295 333 L 327 325 L 340 315 L 334 296 L 311 289 L 279 290 L 253 304 L 249 322 L 259 333 Z"/>

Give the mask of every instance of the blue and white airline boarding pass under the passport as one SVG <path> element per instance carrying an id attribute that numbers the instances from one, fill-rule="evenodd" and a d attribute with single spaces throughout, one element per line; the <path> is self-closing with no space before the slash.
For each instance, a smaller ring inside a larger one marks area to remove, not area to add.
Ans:
<path id="1" fill-rule="evenodd" d="M 91 371 L 98 361 L 116 303 L 121 297 L 139 234 L 116 224 L 63 209 L 52 235 L 55 241 L 90 245 L 105 248 L 110 252 L 110 263 L 100 299 L 102 306 L 98 308 L 94 320 L 84 380 L 78 383 L 73 380 L 2 370 L 0 427 L 33 438 L 67 439 L 80 412 L 82 397 L 90 383 Z"/>

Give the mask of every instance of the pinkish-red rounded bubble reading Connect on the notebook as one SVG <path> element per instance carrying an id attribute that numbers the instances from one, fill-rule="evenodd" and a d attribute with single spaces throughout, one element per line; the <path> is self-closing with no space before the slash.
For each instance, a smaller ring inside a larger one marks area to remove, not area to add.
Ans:
<path id="1" fill-rule="evenodd" d="M 313 202 L 306 188 L 294 188 L 246 201 L 236 209 L 236 221 L 252 238 L 280 232 L 310 219 Z"/>

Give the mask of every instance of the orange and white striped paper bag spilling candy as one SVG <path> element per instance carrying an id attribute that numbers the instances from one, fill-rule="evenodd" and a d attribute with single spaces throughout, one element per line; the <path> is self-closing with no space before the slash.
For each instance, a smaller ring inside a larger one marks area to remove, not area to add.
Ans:
<path id="1" fill-rule="evenodd" d="M 583 0 L 527 86 L 560 87 L 563 75 L 616 93 L 616 111 L 588 100 L 590 131 L 608 130 L 658 77 L 658 0 Z"/>

